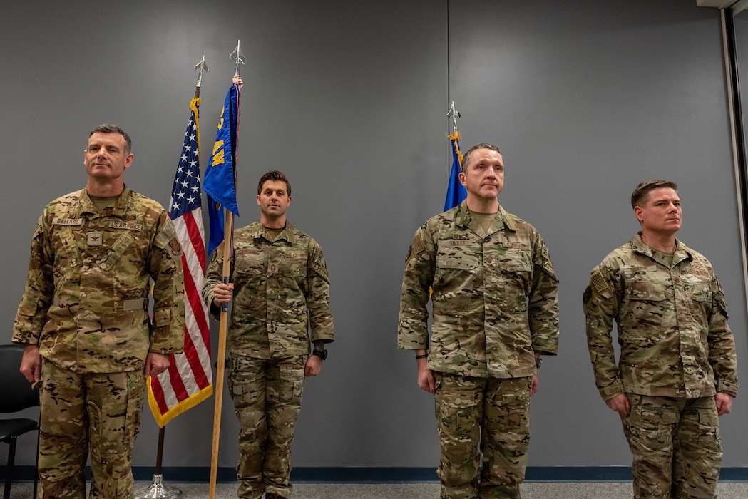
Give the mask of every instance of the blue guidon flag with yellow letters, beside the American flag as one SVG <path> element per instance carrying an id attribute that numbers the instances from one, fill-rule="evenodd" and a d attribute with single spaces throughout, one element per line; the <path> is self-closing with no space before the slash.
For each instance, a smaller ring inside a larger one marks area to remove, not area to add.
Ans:
<path id="1" fill-rule="evenodd" d="M 236 205 L 235 164 L 240 96 L 241 83 L 234 82 L 226 94 L 210 162 L 203 179 L 203 191 L 208 196 L 209 253 L 212 253 L 224 239 L 224 209 L 239 215 L 239 207 Z"/>

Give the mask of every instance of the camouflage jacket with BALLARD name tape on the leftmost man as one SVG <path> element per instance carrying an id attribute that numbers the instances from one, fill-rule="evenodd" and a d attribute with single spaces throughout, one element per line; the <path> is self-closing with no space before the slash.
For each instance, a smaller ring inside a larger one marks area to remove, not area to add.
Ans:
<path id="1" fill-rule="evenodd" d="M 78 373 L 140 370 L 148 352 L 181 352 L 181 256 L 167 212 L 126 186 L 100 211 L 86 189 L 52 201 L 31 241 L 13 342 Z"/>

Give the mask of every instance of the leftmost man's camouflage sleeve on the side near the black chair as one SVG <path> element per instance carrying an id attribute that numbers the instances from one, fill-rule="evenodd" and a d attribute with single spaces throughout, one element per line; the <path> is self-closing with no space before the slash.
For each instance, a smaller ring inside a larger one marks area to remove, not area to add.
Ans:
<path id="1" fill-rule="evenodd" d="M 55 292 L 52 251 L 45 232 L 45 215 L 40 216 L 31 238 L 28 274 L 23 297 L 13 321 L 13 343 L 36 345 Z"/>

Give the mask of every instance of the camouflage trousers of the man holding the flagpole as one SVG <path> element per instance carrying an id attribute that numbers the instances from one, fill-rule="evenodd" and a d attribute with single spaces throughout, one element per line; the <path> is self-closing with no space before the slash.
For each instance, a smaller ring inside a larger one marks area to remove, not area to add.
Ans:
<path id="1" fill-rule="evenodd" d="M 307 355 L 274 361 L 232 355 L 228 387 L 239 419 L 239 498 L 291 497 L 291 443 Z"/>

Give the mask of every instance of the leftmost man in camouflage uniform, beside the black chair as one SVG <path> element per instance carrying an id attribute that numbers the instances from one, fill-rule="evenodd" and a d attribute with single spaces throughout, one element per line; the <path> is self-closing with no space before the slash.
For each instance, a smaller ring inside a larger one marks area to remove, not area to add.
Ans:
<path id="1" fill-rule="evenodd" d="M 146 377 L 183 347 L 181 248 L 162 206 L 125 186 L 130 147 L 118 126 L 94 129 L 85 189 L 49 203 L 31 242 L 13 342 L 41 385 L 40 498 L 85 497 L 89 447 L 89 497 L 134 496 Z"/>

